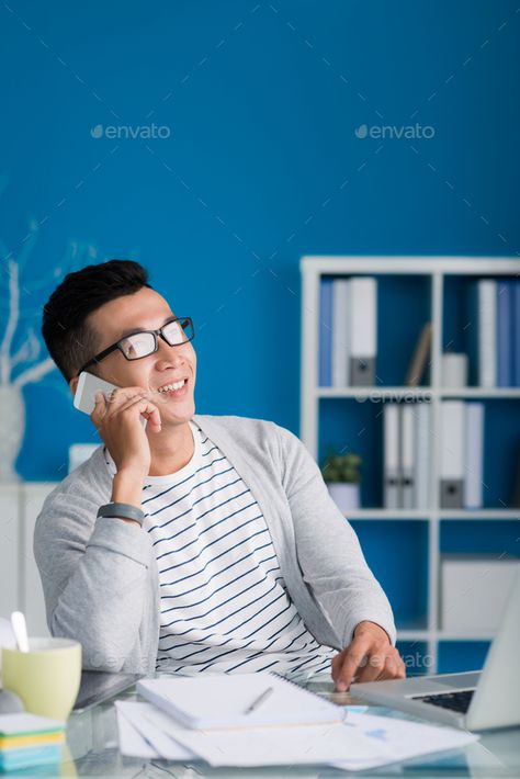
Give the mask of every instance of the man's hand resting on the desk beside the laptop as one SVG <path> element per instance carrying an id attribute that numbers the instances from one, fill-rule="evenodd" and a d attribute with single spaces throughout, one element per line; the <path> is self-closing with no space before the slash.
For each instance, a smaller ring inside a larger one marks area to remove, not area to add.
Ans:
<path id="1" fill-rule="evenodd" d="M 405 664 L 388 634 L 375 622 L 360 622 L 350 644 L 332 658 L 332 680 L 340 692 L 351 682 L 404 679 Z"/>

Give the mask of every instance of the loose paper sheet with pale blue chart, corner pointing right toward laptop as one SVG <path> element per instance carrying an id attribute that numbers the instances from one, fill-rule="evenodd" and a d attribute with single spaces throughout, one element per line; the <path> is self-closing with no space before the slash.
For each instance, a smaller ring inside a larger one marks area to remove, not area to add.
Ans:
<path id="1" fill-rule="evenodd" d="M 358 763 L 350 759 L 331 763 L 336 768 L 346 770 L 375 768 L 388 763 L 431 755 L 436 752 L 462 748 L 478 738 L 474 733 L 454 727 L 422 724 L 393 716 L 362 714 L 354 711 L 348 712 L 344 726 L 376 743 L 383 752 L 381 755 L 366 756 L 365 759 Z"/>

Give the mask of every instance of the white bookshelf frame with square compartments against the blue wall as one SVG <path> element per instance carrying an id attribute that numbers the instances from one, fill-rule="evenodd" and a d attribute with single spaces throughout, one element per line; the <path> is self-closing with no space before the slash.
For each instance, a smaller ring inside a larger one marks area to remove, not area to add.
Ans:
<path id="1" fill-rule="evenodd" d="M 444 387 L 441 384 L 442 329 L 444 282 L 448 276 L 510 276 L 520 274 L 520 259 L 466 257 L 303 257 L 302 273 L 302 373 L 301 373 L 301 438 L 314 458 L 318 459 L 319 403 L 323 398 L 360 399 L 428 399 L 431 425 L 439 429 L 440 404 L 444 398 L 520 399 L 519 387 Z M 410 275 L 430 280 L 430 320 L 432 341 L 430 351 L 430 384 L 428 386 L 320 387 L 319 365 L 319 290 L 323 275 Z M 351 511 L 352 520 L 425 520 L 428 522 L 428 603 L 425 629 L 398 626 L 398 639 L 423 642 L 427 652 L 438 661 L 438 643 L 444 641 L 488 641 L 490 635 L 453 635 L 439 625 L 440 522 L 449 520 L 520 519 L 520 509 L 443 510 L 439 506 L 439 440 L 432 443 L 430 471 L 431 505 L 427 509 L 399 510 L 363 508 Z"/>

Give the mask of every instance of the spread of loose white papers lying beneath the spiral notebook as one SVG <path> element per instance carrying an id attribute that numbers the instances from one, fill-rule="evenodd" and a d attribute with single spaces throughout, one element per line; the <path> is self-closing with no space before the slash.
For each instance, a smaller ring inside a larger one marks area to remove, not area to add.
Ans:
<path id="1" fill-rule="evenodd" d="M 461 748 L 477 740 L 465 731 L 352 710 L 343 724 L 201 731 L 184 727 L 151 703 L 117 701 L 116 707 L 123 754 L 204 759 L 214 767 L 321 764 L 364 770 Z"/>

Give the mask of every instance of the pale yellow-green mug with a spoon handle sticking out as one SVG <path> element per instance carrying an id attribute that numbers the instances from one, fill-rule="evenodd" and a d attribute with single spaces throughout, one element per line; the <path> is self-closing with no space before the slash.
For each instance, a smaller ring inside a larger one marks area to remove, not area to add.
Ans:
<path id="1" fill-rule="evenodd" d="M 65 722 L 81 681 L 81 644 L 68 639 L 30 639 L 29 652 L 2 648 L 2 682 L 32 714 Z"/>

